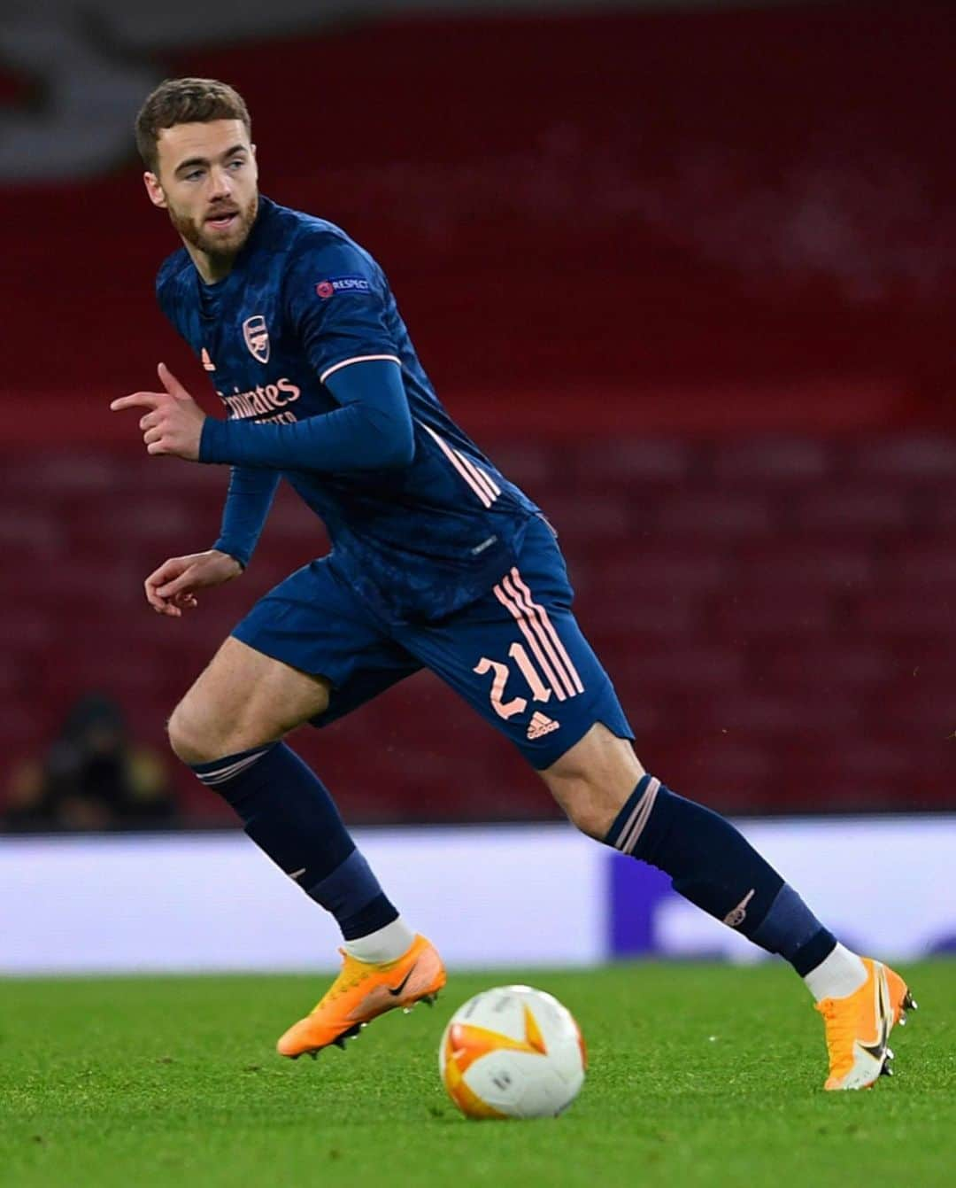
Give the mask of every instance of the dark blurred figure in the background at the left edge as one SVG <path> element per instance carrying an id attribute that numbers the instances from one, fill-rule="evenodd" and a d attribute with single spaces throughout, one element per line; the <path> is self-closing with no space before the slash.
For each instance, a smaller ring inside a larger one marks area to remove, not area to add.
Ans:
<path id="1" fill-rule="evenodd" d="M 72 706 L 42 763 L 14 767 L 2 823 L 19 832 L 148 829 L 175 819 L 159 757 L 131 741 L 114 701 L 90 694 Z"/>

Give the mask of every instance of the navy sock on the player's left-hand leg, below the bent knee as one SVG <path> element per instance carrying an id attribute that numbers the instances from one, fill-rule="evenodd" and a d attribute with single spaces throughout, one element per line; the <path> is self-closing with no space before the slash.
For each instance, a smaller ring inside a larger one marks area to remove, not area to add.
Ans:
<path id="1" fill-rule="evenodd" d="M 330 911 L 347 941 L 398 917 L 322 781 L 285 742 L 192 764 L 260 849 Z"/>

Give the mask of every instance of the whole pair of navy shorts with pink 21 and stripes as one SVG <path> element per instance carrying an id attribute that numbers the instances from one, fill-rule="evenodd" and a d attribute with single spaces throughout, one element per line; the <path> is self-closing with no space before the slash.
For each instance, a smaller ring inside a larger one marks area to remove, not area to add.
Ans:
<path id="1" fill-rule="evenodd" d="M 534 519 L 518 563 L 488 594 L 439 623 L 384 621 L 323 557 L 270 590 L 233 634 L 331 683 L 329 708 L 314 726 L 428 668 L 542 770 L 595 722 L 634 737 L 571 613 L 572 598 L 555 535 Z"/>

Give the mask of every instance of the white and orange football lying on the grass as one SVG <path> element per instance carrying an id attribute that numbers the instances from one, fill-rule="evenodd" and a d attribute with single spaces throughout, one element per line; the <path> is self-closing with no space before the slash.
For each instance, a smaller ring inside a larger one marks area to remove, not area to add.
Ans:
<path id="1" fill-rule="evenodd" d="M 553 1118 L 577 1097 L 587 1066 L 571 1012 L 531 986 L 469 998 L 438 1049 L 442 1083 L 467 1118 Z"/>

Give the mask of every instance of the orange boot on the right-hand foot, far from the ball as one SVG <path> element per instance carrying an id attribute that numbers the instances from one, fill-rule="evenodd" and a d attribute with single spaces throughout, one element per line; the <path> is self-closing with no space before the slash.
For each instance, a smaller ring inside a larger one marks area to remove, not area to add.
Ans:
<path id="1" fill-rule="evenodd" d="M 867 980 L 857 991 L 816 1004 L 827 1026 L 830 1054 L 830 1075 L 824 1089 L 866 1089 L 879 1076 L 891 1076 L 889 1032 L 894 1024 L 906 1022 L 907 1010 L 917 1009 L 898 973 L 870 958 L 862 961 Z"/>

